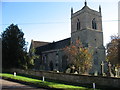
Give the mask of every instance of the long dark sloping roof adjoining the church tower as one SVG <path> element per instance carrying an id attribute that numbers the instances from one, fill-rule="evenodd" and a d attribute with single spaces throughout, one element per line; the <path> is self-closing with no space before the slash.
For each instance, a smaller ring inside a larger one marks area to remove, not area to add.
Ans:
<path id="1" fill-rule="evenodd" d="M 47 45 L 44 46 L 40 46 L 36 48 L 36 54 L 41 54 L 44 51 L 49 51 L 49 50 L 55 50 L 55 49 L 62 49 L 65 46 L 69 46 L 70 45 L 70 39 L 71 38 L 66 38 L 64 40 L 60 40 L 57 42 L 53 42 L 53 43 L 49 43 Z"/>

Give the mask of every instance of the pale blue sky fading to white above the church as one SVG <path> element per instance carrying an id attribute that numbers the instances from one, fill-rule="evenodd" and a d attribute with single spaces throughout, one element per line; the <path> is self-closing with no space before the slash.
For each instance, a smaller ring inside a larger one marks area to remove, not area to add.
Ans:
<path id="1" fill-rule="evenodd" d="M 10 24 L 17 24 L 24 32 L 25 40 L 53 42 L 71 36 L 71 7 L 73 12 L 84 6 L 85 0 L 2 0 L 0 32 Z M 91 9 L 99 11 L 101 5 L 104 46 L 110 36 L 118 33 L 118 1 L 87 0 Z M 29 49 L 28 45 L 28 49 Z"/>

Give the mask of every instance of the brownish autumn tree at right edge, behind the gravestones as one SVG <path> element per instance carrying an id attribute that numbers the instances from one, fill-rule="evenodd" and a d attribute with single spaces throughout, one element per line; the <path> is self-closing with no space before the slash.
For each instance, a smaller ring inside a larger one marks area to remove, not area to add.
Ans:
<path id="1" fill-rule="evenodd" d="M 120 67 L 120 36 L 111 36 L 111 41 L 107 44 L 107 61 L 116 67 Z"/>

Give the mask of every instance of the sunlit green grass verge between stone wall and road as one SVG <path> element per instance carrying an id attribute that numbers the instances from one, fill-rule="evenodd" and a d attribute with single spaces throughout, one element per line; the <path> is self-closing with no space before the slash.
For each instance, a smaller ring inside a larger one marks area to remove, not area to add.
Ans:
<path id="1" fill-rule="evenodd" d="M 13 74 L 8 74 L 8 73 L 0 73 L 0 76 L 4 77 L 4 78 L 10 78 L 10 79 L 14 79 L 14 80 L 19 80 L 19 81 L 23 81 L 23 82 L 27 82 L 27 83 L 31 83 L 34 84 L 36 86 L 42 86 L 42 87 L 50 87 L 50 88 L 60 88 L 60 89 L 74 89 L 74 90 L 92 90 L 89 88 L 85 88 L 85 87 L 80 87 L 80 86 L 72 86 L 72 85 L 65 85 L 65 84 L 60 84 L 60 83 L 55 83 L 55 82 L 48 82 L 48 81 L 42 81 L 39 79 L 32 79 L 32 78 L 28 78 L 25 76 L 14 76 Z"/>

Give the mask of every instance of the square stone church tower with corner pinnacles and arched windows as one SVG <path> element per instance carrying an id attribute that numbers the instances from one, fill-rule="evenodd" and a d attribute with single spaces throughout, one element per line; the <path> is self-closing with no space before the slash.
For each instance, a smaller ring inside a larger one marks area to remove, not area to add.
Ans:
<path id="1" fill-rule="evenodd" d="M 99 11 L 90 9 L 85 1 L 84 7 L 73 13 L 71 8 L 71 43 L 80 40 L 85 47 L 93 48 L 93 67 L 91 73 L 101 73 L 101 62 L 105 61 L 103 46 L 101 7 Z"/>

